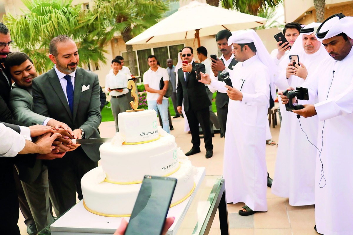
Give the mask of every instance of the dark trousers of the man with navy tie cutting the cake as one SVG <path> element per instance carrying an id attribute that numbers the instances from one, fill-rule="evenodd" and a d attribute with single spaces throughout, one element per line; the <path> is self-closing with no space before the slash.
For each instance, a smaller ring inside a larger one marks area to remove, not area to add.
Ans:
<path id="1" fill-rule="evenodd" d="M 81 200 L 81 178 L 91 169 L 98 166 L 92 161 L 81 147 L 67 152 L 61 159 L 50 160 L 48 177 L 53 186 L 54 195 L 58 203 L 60 215 L 76 204 L 76 192 Z M 60 216 L 56 215 L 56 216 Z"/>

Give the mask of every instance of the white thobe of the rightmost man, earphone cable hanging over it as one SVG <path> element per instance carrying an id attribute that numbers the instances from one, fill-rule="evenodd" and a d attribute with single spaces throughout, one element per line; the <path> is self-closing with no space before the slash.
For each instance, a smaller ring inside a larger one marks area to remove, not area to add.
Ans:
<path id="1" fill-rule="evenodd" d="M 323 166 L 317 154 L 315 221 L 317 232 L 325 235 L 353 234 L 352 64 L 353 49 L 341 61 L 319 64 L 314 79 L 303 84 L 309 96 L 317 95 L 319 101 L 315 104 L 319 118 L 317 147 L 322 148 Z"/>

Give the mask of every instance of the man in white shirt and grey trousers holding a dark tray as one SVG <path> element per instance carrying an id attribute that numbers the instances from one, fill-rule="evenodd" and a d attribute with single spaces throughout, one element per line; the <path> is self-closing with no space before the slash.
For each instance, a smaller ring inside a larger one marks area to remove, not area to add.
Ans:
<path id="1" fill-rule="evenodd" d="M 106 92 L 109 92 L 112 97 L 110 107 L 113 112 L 116 132 L 119 132 L 118 114 L 129 109 L 126 93 L 128 93 L 127 80 L 131 77 L 122 72 L 121 64 L 118 59 L 112 60 L 113 73 L 108 73 L 106 76 Z"/>

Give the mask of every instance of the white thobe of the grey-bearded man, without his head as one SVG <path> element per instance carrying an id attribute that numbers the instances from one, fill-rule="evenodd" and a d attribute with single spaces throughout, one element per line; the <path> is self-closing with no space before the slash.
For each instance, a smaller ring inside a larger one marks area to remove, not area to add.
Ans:
<path id="1" fill-rule="evenodd" d="M 322 48 L 314 54 L 305 54 L 304 49 L 299 55 L 309 74 L 315 72 L 322 60 L 332 60 Z M 289 60 L 280 63 L 282 68 L 279 78 L 286 80 L 286 68 Z M 310 76 L 307 78 L 310 79 Z M 296 88 L 304 83 L 304 79 L 292 75 L 288 85 Z M 317 99 L 299 100 L 299 104 L 315 104 Z M 293 112 L 288 112 L 281 105 L 282 123 L 278 141 L 275 174 L 271 191 L 280 197 L 289 198 L 289 205 L 303 206 L 315 204 L 315 164 L 317 149 L 317 116 L 299 120 Z M 299 123 L 300 122 L 300 123 Z M 300 126 L 301 125 L 301 126 Z M 301 130 L 303 128 L 303 130 Z M 312 143 L 310 143 L 309 141 Z"/>

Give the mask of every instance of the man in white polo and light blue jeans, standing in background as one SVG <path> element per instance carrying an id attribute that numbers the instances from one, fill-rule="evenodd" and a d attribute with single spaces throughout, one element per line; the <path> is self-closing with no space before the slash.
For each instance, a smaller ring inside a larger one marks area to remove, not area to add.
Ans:
<path id="1" fill-rule="evenodd" d="M 159 111 L 162 118 L 163 130 L 170 133 L 168 120 L 168 98 L 164 97 L 168 88 L 169 74 L 167 69 L 157 66 L 157 57 L 150 55 L 147 58 L 150 68 L 143 74 L 143 84 L 147 92 L 148 109 Z M 163 88 L 160 88 L 163 80 Z"/>

